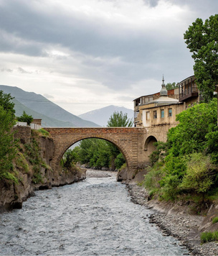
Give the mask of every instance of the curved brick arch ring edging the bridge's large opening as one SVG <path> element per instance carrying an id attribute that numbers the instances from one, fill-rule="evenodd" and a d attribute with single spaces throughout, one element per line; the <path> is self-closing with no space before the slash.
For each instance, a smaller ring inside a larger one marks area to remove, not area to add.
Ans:
<path id="1" fill-rule="evenodd" d="M 62 150 L 60 151 L 60 155 L 57 157 L 56 164 L 60 163 L 60 160 L 62 159 L 63 155 L 65 154 L 65 152 L 68 150 L 69 147 L 71 147 L 77 142 L 80 142 L 81 140 L 87 140 L 87 139 L 99 139 L 99 140 L 106 140 L 108 142 L 111 142 L 113 145 L 115 145 L 115 147 L 118 147 L 120 152 L 122 152 L 123 156 L 125 157 L 125 163 L 127 167 L 129 166 L 130 156 L 128 155 L 128 152 L 125 150 L 125 148 L 122 145 L 119 145 L 119 143 L 116 140 L 113 140 L 113 138 L 111 137 L 107 138 L 107 136 L 101 137 L 98 135 L 83 135 L 82 137 L 80 136 L 79 138 L 73 138 L 72 140 L 69 140 L 69 142 L 67 142 L 65 146 L 62 148 Z"/>

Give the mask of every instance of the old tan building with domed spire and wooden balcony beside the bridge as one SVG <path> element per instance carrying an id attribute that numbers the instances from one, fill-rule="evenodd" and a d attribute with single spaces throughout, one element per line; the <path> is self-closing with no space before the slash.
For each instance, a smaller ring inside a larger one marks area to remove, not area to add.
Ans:
<path id="1" fill-rule="evenodd" d="M 195 77 L 190 76 L 178 84 L 178 88 L 167 91 L 162 80 L 161 91 L 151 95 L 141 96 L 134 100 L 135 127 L 145 127 L 151 131 L 161 132 L 161 138 L 166 141 L 166 134 L 175 127 L 176 114 L 200 101 Z"/>

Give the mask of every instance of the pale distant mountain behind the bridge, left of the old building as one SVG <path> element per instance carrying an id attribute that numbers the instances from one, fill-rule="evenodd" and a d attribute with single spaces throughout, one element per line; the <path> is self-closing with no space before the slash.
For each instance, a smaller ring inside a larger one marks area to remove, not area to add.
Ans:
<path id="1" fill-rule="evenodd" d="M 129 119 L 133 120 L 133 109 L 126 109 L 123 106 L 105 106 L 102 109 L 96 109 L 89 111 L 85 114 L 80 114 L 80 117 L 85 120 L 89 120 L 99 124 L 100 126 L 106 127 L 108 120 L 114 111 L 122 111 L 123 114 L 127 114 Z"/>

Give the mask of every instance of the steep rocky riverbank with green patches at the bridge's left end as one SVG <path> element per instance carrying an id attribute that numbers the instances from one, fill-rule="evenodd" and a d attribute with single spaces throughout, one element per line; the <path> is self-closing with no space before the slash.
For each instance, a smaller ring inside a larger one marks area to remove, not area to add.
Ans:
<path id="1" fill-rule="evenodd" d="M 14 180 L 0 180 L 0 212 L 21 209 L 23 201 L 34 196 L 34 191 L 63 186 L 85 179 L 86 170 L 77 166 L 69 170 L 50 166 L 54 142 L 30 127 L 16 127 L 19 139 L 14 157 Z"/>

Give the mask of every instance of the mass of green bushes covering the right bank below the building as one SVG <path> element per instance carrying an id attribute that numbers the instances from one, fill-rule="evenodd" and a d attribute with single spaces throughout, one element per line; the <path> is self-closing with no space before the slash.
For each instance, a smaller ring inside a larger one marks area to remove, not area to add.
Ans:
<path id="1" fill-rule="evenodd" d="M 176 116 L 179 124 L 169 129 L 167 142 L 156 142 L 144 186 L 150 195 L 164 200 L 217 193 L 217 100 L 197 104 Z"/>

